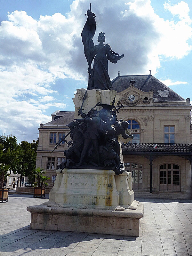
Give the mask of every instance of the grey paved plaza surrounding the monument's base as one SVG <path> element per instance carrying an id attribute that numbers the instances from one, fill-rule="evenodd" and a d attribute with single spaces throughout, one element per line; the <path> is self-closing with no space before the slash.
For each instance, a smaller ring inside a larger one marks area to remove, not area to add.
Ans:
<path id="1" fill-rule="evenodd" d="M 0 256 L 192 255 L 192 200 L 136 200 L 144 204 L 144 217 L 140 236 L 132 237 L 32 230 L 26 208 L 48 197 L 12 194 L 0 203 Z"/>

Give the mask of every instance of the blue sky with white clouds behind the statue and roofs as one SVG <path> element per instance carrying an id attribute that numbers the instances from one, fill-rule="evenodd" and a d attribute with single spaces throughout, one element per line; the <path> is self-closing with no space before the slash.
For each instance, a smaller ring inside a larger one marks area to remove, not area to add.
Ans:
<path id="1" fill-rule="evenodd" d="M 81 31 L 90 1 L 1 0 L 0 134 L 38 137 L 55 110 L 74 111 L 87 86 Z M 192 100 L 192 1 L 93 0 L 99 32 L 124 54 L 109 75 L 149 74 Z"/>

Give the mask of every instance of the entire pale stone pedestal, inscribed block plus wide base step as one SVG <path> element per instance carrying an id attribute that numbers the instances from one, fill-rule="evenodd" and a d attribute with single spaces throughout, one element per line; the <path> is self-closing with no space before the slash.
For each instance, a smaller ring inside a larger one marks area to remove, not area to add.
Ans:
<path id="1" fill-rule="evenodd" d="M 134 200 L 131 172 L 57 170 L 49 202 L 29 206 L 31 228 L 139 236 L 143 204 Z"/>

